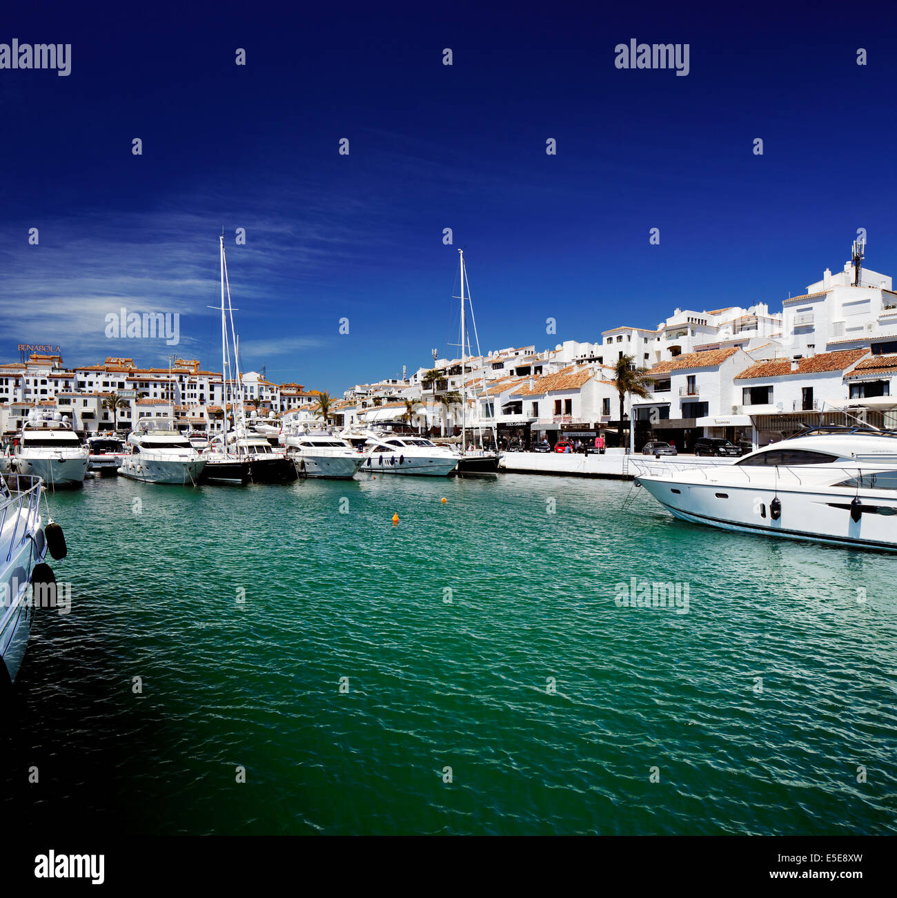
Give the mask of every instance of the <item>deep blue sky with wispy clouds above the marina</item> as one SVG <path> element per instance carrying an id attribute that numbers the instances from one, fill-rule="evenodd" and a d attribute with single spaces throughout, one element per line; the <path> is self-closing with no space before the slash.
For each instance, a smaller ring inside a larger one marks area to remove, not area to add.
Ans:
<path id="1" fill-rule="evenodd" d="M 72 72 L 0 70 L 0 356 L 163 364 L 106 339 L 124 305 L 214 365 L 222 227 L 243 367 L 333 392 L 454 354 L 458 247 L 484 350 L 778 308 L 858 227 L 897 273 L 893 16 L 624 5 L 5 9 L 0 43 L 70 43 Z M 630 38 L 690 74 L 617 69 Z"/>

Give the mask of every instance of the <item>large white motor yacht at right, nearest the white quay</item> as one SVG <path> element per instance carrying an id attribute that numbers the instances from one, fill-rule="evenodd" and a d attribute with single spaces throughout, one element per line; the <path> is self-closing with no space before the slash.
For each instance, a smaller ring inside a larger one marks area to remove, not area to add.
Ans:
<path id="1" fill-rule="evenodd" d="M 635 460 L 672 515 L 742 533 L 897 550 L 897 432 L 814 427 L 724 464 Z"/>

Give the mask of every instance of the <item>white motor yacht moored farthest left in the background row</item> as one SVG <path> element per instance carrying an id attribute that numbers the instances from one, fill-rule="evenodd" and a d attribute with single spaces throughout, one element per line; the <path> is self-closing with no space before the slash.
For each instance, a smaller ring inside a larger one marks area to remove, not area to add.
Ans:
<path id="1" fill-rule="evenodd" d="M 72 429 L 69 419 L 59 413 L 40 416 L 32 411 L 22 424 L 15 470 L 40 477 L 50 489 L 79 487 L 87 473 L 89 453 Z"/>

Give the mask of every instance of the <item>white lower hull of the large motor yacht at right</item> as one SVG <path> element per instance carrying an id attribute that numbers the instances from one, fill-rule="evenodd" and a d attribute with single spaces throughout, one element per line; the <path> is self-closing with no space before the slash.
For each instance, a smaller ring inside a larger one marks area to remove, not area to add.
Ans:
<path id="1" fill-rule="evenodd" d="M 897 551 L 897 496 L 870 490 L 739 487 L 711 482 L 687 483 L 662 477 L 638 476 L 638 482 L 677 518 L 738 533 L 761 533 L 792 540 L 812 540 L 867 549 Z M 862 511 L 854 520 L 851 501 Z M 781 511 L 773 519 L 772 500 Z"/>

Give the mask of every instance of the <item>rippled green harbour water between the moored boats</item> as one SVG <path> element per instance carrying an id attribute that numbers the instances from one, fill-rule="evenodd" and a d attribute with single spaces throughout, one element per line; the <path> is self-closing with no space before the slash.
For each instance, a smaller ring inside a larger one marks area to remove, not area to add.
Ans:
<path id="1" fill-rule="evenodd" d="M 4 718 L 17 825 L 897 832 L 897 557 L 612 480 L 104 479 L 49 505 L 72 609 L 39 612 Z M 688 612 L 620 607 L 631 577 Z"/>

